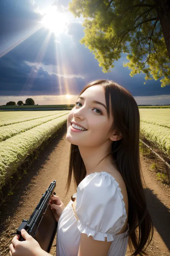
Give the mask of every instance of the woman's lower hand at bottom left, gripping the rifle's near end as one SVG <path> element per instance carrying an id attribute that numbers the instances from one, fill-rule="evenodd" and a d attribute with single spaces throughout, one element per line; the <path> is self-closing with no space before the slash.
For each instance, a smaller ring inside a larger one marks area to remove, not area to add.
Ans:
<path id="1" fill-rule="evenodd" d="M 9 246 L 10 256 L 40 256 L 42 248 L 39 243 L 27 233 L 25 229 L 21 230 L 22 237 L 25 241 L 19 241 L 20 235 L 15 235 Z"/>

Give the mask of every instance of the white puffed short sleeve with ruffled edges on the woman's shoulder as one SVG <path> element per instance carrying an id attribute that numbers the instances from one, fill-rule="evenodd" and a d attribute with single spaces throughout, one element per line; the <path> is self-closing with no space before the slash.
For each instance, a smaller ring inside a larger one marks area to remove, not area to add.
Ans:
<path id="1" fill-rule="evenodd" d="M 127 214 L 119 184 L 107 172 L 86 176 L 77 187 L 76 214 L 81 233 L 94 240 L 113 241 Z"/>

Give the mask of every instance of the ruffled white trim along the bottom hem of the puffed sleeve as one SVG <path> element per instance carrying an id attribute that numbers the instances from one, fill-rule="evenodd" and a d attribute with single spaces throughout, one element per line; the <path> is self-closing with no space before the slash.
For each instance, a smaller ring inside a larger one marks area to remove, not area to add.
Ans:
<path id="1" fill-rule="evenodd" d="M 85 226 L 84 224 L 82 224 L 80 222 L 80 220 L 78 221 L 77 228 L 79 229 L 79 231 L 81 233 L 86 234 L 88 237 L 89 237 L 89 235 L 92 235 L 94 240 L 105 241 L 105 238 L 107 237 L 107 242 L 111 242 L 111 241 L 113 241 L 115 239 L 115 235 L 114 234 L 101 233 L 99 231 L 90 229 L 88 226 Z"/>

